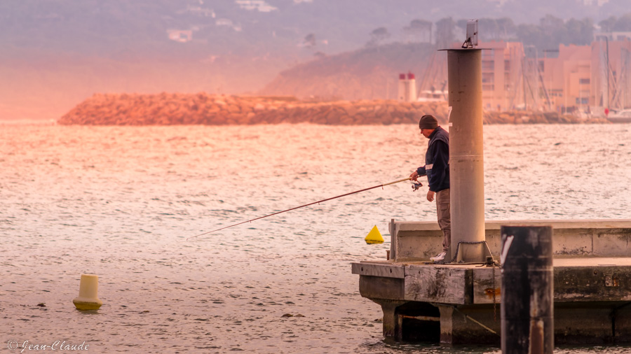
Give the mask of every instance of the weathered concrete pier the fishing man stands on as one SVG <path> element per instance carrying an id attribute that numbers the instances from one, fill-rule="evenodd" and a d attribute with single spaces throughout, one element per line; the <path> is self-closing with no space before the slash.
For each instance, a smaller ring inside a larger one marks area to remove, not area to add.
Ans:
<path id="1" fill-rule="evenodd" d="M 631 343 L 631 220 L 487 221 L 500 259 L 503 225 L 552 226 L 554 343 Z M 501 269 L 430 264 L 436 222 L 391 222 L 391 260 L 352 264 L 362 297 L 384 311 L 384 336 L 442 344 L 501 343 Z M 394 254 L 394 255 L 393 255 Z"/>

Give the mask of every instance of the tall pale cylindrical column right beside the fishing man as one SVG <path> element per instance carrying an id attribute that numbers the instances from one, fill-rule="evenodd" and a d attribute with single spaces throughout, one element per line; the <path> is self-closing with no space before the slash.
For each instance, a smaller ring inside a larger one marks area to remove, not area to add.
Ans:
<path id="1" fill-rule="evenodd" d="M 449 184 L 452 257 L 460 242 L 485 241 L 482 145 L 482 50 L 447 50 L 449 73 Z M 484 262 L 482 246 L 465 262 Z"/>

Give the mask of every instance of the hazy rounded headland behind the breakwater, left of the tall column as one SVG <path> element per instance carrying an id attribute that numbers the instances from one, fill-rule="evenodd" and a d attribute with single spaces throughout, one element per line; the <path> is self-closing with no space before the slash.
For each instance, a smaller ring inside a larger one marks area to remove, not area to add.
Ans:
<path id="1" fill-rule="evenodd" d="M 260 94 L 292 94 L 301 99 L 396 99 L 400 73 L 414 73 L 420 86 L 434 45 L 391 43 L 314 59 L 287 69 Z"/>

